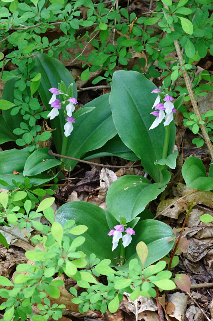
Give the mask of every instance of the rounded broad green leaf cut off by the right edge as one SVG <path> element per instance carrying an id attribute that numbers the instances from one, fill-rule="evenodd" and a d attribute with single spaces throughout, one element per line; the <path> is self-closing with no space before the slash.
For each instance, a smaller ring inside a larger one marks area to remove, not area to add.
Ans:
<path id="1" fill-rule="evenodd" d="M 189 157 L 182 167 L 182 175 L 187 187 L 200 191 L 213 190 L 213 177 L 206 176 L 206 169 L 197 157 Z"/>

